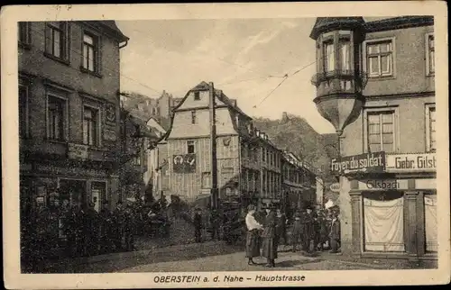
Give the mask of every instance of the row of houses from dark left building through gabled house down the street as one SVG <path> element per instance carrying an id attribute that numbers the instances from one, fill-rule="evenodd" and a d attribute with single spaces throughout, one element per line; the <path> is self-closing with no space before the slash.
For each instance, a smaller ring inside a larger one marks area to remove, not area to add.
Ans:
<path id="1" fill-rule="evenodd" d="M 208 85 L 182 99 L 163 94 L 158 104 L 146 104 L 170 116 L 169 131 L 155 119 L 142 120 L 125 110 L 120 90 L 119 50 L 128 41 L 114 21 L 19 23 L 23 213 L 53 194 L 69 204 L 92 202 L 97 210 L 103 201 L 114 207 L 149 188 L 157 198 L 162 192 L 194 201 L 209 194 Z M 220 198 L 262 204 L 315 190 L 315 174 L 253 128 L 235 100 L 220 90 L 215 98 Z M 314 195 L 302 196 L 314 202 Z"/>

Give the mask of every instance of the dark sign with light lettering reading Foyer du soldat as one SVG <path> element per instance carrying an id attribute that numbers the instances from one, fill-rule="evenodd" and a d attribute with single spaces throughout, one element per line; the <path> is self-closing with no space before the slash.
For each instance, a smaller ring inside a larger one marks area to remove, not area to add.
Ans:
<path id="1" fill-rule="evenodd" d="M 380 151 L 332 159 L 330 161 L 330 168 L 335 174 L 350 172 L 384 172 L 385 152 Z"/>

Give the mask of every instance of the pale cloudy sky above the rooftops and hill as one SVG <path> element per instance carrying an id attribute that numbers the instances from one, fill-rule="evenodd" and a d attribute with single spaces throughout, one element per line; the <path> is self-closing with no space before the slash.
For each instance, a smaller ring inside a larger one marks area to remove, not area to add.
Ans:
<path id="1" fill-rule="evenodd" d="M 184 96 L 214 82 L 251 116 L 305 118 L 319 133 L 335 132 L 313 99 L 315 18 L 116 21 L 130 38 L 121 50 L 121 90 Z M 285 74 L 288 77 L 278 86 Z M 269 77 L 272 76 L 272 77 Z"/>

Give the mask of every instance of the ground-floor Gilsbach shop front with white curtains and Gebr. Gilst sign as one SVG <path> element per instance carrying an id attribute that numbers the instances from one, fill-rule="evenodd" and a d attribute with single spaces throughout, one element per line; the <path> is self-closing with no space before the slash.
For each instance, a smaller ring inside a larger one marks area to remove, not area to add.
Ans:
<path id="1" fill-rule="evenodd" d="M 380 173 L 347 176 L 354 254 L 437 258 L 435 155 L 387 154 L 384 162 Z"/>

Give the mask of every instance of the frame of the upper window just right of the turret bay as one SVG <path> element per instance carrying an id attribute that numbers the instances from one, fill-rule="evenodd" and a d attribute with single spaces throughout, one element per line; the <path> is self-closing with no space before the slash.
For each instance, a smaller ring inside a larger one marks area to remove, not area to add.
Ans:
<path id="1" fill-rule="evenodd" d="M 379 52 L 377 55 L 378 57 L 378 64 L 379 64 L 379 75 L 372 75 L 369 71 L 369 53 L 368 53 L 368 46 L 372 44 L 377 43 L 383 43 L 383 42 L 391 42 L 391 73 L 390 74 L 382 74 L 382 61 L 381 61 L 381 52 Z M 363 42 L 363 58 L 362 58 L 363 64 L 362 67 L 364 68 L 364 72 L 368 74 L 369 79 L 380 79 L 380 78 L 391 78 L 396 77 L 396 38 L 395 37 L 387 37 L 387 38 L 378 38 L 378 39 L 372 39 L 367 40 Z"/>

